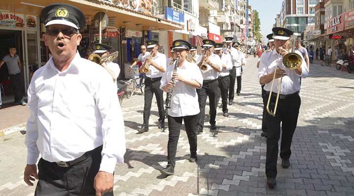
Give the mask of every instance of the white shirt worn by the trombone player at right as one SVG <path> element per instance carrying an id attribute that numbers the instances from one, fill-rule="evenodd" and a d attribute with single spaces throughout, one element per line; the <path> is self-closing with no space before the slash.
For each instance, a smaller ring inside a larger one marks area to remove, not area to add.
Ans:
<path id="1" fill-rule="evenodd" d="M 263 75 L 267 75 L 272 73 L 276 69 L 276 64 L 279 62 L 279 67 L 281 69 L 284 69 L 287 73 L 287 75 L 283 76 L 282 82 L 281 82 L 281 88 L 280 88 L 280 94 L 281 95 L 291 95 L 294 94 L 295 92 L 300 90 L 300 83 L 299 83 L 299 77 L 305 78 L 308 75 L 308 70 L 307 70 L 307 65 L 306 61 L 302 57 L 301 53 L 297 50 L 295 50 L 297 54 L 300 55 L 302 58 L 302 64 L 301 64 L 301 75 L 298 75 L 295 70 L 290 70 L 283 66 L 283 58 L 282 56 L 278 55 L 278 52 L 276 49 L 274 49 L 271 52 L 263 53 L 261 56 L 261 62 L 260 66 L 258 69 L 258 78 L 260 79 Z M 278 56 L 279 56 L 279 61 L 278 61 Z M 273 74 L 272 74 L 273 76 Z M 270 89 L 272 81 L 269 83 L 266 83 L 264 90 L 266 91 L 272 91 L 273 93 L 278 93 L 278 87 L 279 87 L 279 82 L 280 78 L 276 78 L 274 81 L 273 89 Z"/>

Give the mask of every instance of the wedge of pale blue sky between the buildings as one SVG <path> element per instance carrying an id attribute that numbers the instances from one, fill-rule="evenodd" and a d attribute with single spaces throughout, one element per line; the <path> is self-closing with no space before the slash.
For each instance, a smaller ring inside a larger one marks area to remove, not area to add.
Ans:
<path id="1" fill-rule="evenodd" d="M 261 20 L 262 35 L 271 33 L 271 29 L 275 24 L 275 17 L 280 14 L 281 4 L 283 0 L 248 0 L 248 5 L 252 6 L 253 10 L 257 10 L 259 13 L 259 18 Z"/>

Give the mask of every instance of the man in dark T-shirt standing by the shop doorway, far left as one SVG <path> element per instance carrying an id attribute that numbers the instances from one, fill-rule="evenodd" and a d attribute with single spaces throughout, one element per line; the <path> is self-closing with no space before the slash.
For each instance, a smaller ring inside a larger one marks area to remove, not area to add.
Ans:
<path id="1" fill-rule="evenodd" d="M 14 104 L 15 105 L 26 105 L 25 100 L 22 97 L 21 92 L 21 81 L 20 81 L 20 74 L 21 74 L 21 61 L 19 55 L 16 54 L 16 48 L 10 46 L 8 48 L 9 54 L 5 55 L 2 60 L 0 61 L 0 68 L 1 66 L 6 63 L 8 73 L 10 76 L 12 91 L 15 94 L 14 97 Z"/>

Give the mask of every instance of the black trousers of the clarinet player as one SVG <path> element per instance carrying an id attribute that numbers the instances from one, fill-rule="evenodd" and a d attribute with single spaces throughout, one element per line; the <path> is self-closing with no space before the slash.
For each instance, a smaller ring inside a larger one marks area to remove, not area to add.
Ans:
<path id="1" fill-rule="evenodd" d="M 167 160 L 168 165 L 172 165 L 173 167 L 176 166 L 177 143 L 182 120 L 184 121 L 184 127 L 188 137 L 189 149 L 191 152 L 197 151 L 196 125 L 198 122 L 198 114 L 184 117 L 168 116 L 169 141 L 167 144 Z"/>

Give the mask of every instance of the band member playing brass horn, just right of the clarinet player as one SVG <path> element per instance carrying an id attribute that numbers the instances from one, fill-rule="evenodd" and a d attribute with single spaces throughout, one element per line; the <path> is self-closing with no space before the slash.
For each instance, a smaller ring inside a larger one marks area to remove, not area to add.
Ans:
<path id="1" fill-rule="evenodd" d="M 212 40 L 203 40 L 204 55 L 200 55 L 197 60 L 198 67 L 201 68 L 203 75 L 203 87 L 197 89 L 199 101 L 199 120 L 197 124 L 197 132 L 202 133 L 204 128 L 205 106 L 207 104 L 207 97 L 209 98 L 211 129 L 216 129 L 216 107 L 217 94 L 219 83 L 217 81 L 218 74 L 222 67 L 220 64 L 220 57 L 212 52 L 215 42 Z M 205 70 L 203 70 L 205 68 Z"/>

